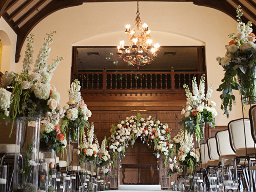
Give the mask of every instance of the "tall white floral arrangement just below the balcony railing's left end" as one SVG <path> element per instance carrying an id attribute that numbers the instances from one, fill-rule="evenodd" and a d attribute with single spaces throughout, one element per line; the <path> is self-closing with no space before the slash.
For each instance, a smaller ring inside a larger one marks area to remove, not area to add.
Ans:
<path id="1" fill-rule="evenodd" d="M 82 140 L 84 128 L 89 126 L 88 117 L 92 116 L 92 112 L 84 103 L 80 89 L 80 83 L 75 79 L 68 90 L 68 106 L 63 107 L 60 112 L 61 126 L 68 131 L 68 138 L 72 141 L 76 141 L 79 136 Z"/>

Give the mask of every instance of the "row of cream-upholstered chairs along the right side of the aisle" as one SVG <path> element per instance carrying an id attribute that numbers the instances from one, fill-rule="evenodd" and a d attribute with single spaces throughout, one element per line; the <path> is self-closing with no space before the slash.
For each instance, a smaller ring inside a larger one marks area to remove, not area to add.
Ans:
<path id="1" fill-rule="evenodd" d="M 216 132 L 215 137 L 201 144 L 201 168 L 220 167 L 222 158 L 236 158 L 240 175 L 243 176 L 244 186 L 252 190 L 252 177 L 249 163 L 256 158 L 256 105 L 249 110 L 249 118 L 232 120 L 228 129 Z M 239 171 L 238 170 L 238 171 Z M 255 185 L 255 183 L 253 184 Z"/>

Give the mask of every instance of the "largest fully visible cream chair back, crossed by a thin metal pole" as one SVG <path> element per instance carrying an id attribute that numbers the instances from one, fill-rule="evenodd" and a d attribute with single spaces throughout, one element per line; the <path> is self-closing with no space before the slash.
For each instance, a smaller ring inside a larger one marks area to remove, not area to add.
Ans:
<path id="1" fill-rule="evenodd" d="M 246 136 L 246 146 L 254 147 L 254 141 L 251 135 L 251 124 L 248 118 L 241 118 L 228 123 L 229 141 L 234 152 L 238 148 L 245 148 L 244 128 Z"/>

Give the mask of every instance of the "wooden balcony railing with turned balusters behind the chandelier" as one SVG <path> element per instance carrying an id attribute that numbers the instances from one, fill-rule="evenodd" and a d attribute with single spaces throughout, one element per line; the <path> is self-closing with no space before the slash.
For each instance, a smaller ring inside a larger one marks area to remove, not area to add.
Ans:
<path id="1" fill-rule="evenodd" d="M 103 70 L 100 72 L 73 72 L 72 79 L 78 79 L 81 90 L 92 92 L 122 92 L 131 90 L 136 92 L 160 91 L 170 92 L 183 90 L 183 84 L 192 88 L 192 79 L 199 77 L 205 72 L 175 72 L 173 69 L 164 72 L 159 71 L 121 71 L 113 72 Z M 97 91 L 98 90 L 98 91 Z M 114 91 L 116 90 L 116 91 Z"/>

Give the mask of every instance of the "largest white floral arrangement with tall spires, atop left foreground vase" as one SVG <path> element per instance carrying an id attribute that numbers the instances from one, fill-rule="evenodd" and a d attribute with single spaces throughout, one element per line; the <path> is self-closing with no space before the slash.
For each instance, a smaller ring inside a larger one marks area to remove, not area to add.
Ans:
<path id="1" fill-rule="evenodd" d="M 56 32 L 51 31 L 44 38 L 45 42 L 37 55 L 31 73 L 34 53 L 33 34 L 28 37 L 23 70 L 18 73 L 6 72 L 3 75 L 2 86 L 12 92 L 10 104 L 12 122 L 14 122 L 16 116 L 26 116 L 28 121 L 34 117 L 44 118 L 47 112 L 51 112 L 59 104 L 60 94 L 50 82 L 54 70 L 63 58 L 57 57 L 56 60 L 52 60 L 52 64 L 47 64 L 51 51 L 48 46 L 53 42 L 52 36 L 54 33 Z"/>

